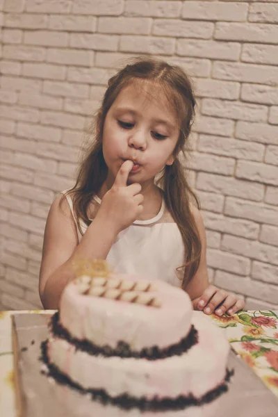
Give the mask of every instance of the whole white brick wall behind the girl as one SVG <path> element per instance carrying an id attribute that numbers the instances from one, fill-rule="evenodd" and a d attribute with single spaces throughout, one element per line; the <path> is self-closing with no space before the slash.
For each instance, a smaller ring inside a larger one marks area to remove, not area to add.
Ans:
<path id="1" fill-rule="evenodd" d="M 277 0 L 0 1 L 0 309 L 40 306 L 44 224 L 120 60 L 181 65 L 210 281 L 278 309 Z"/>

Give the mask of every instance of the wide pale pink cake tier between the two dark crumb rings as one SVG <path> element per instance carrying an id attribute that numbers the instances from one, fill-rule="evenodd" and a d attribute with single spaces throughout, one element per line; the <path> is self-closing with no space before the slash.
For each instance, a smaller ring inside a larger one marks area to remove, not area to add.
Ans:
<path id="1" fill-rule="evenodd" d="M 193 319 L 198 342 L 181 355 L 150 361 L 104 357 L 76 349 L 51 335 L 47 360 L 84 390 L 104 390 L 111 398 L 201 398 L 224 382 L 229 343 L 220 329 L 199 313 Z"/>

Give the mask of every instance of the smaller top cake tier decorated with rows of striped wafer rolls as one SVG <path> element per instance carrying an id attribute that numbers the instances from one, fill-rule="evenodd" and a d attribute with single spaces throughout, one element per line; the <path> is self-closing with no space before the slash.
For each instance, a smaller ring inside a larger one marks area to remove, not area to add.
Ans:
<path id="1" fill-rule="evenodd" d="M 188 294 L 161 281 L 138 276 L 81 275 L 67 285 L 60 322 L 79 339 L 133 350 L 179 343 L 191 327 Z"/>

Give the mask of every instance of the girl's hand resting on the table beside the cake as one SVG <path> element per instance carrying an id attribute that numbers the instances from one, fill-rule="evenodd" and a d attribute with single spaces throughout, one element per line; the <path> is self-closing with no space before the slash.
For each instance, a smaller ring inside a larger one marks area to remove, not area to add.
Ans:
<path id="1" fill-rule="evenodd" d="M 229 294 L 213 285 L 209 285 L 201 297 L 193 301 L 194 309 L 203 310 L 205 314 L 214 312 L 217 316 L 222 316 L 226 311 L 232 315 L 243 307 L 243 300 L 239 300 L 236 295 Z"/>

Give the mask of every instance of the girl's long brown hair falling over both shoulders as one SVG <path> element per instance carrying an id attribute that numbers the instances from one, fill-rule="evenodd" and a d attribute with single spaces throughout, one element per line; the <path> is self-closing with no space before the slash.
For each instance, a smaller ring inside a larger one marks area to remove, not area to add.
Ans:
<path id="1" fill-rule="evenodd" d="M 195 115 L 195 97 L 190 79 L 180 67 L 154 58 L 138 57 L 109 79 L 108 88 L 97 115 L 95 140 L 85 152 L 76 183 L 68 193 L 72 195 L 74 213 L 81 231 L 79 219 L 82 219 L 87 225 L 90 224 L 88 206 L 93 195 L 99 192 L 108 174 L 101 144 L 106 115 L 120 91 L 135 80 L 152 81 L 160 85 L 170 105 L 177 113 L 180 131 L 174 149 L 174 163 L 165 166 L 160 186 L 164 190 L 167 208 L 177 223 L 183 238 L 186 264 L 184 265 L 182 287 L 186 288 L 199 267 L 201 240 L 190 209 L 192 200 L 195 200 L 198 208 L 199 202 L 188 184 L 186 170 L 180 161 L 181 154 L 183 154 L 184 161 L 187 160 L 188 136 Z"/>

